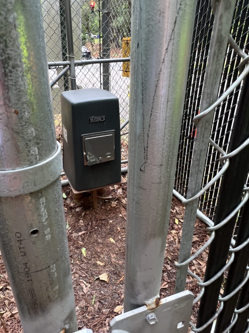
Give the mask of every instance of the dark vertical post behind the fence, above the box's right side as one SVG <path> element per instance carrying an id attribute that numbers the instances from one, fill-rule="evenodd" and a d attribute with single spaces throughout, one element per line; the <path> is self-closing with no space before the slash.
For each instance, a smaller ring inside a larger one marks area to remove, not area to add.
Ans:
<path id="1" fill-rule="evenodd" d="M 109 0 L 102 0 L 102 56 L 110 58 Z M 103 89 L 110 91 L 110 64 L 103 63 Z"/>

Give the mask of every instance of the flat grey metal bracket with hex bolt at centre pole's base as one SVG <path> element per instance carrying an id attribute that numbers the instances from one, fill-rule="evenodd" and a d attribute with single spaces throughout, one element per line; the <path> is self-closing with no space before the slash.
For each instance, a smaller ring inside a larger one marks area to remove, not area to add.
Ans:
<path id="1" fill-rule="evenodd" d="M 163 298 L 159 306 L 147 306 L 128 311 L 113 318 L 111 333 L 187 333 L 194 295 L 189 290 Z M 152 326 L 153 325 L 153 326 Z"/>

